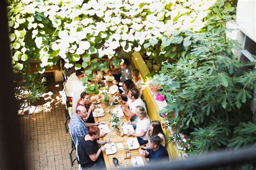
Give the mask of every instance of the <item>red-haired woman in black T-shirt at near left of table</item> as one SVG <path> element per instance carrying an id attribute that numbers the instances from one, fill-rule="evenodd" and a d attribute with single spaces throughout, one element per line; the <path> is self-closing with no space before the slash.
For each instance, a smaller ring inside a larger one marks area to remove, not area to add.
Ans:
<path id="1" fill-rule="evenodd" d="M 82 169 L 92 167 L 105 168 L 102 154 L 105 147 L 99 147 L 99 145 L 104 145 L 110 141 L 98 140 L 99 133 L 100 130 L 97 126 L 91 126 L 89 134 L 86 134 L 78 145 L 79 164 L 82 166 Z"/>

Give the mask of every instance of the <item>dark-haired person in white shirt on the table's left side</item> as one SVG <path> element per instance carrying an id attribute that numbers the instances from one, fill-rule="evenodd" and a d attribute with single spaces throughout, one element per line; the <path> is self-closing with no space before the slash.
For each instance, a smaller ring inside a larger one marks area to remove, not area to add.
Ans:
<path id="1" fill-rule="evenodd" d="M 76 89 L 83 86 L 81 78 L 84 76 L 84 68 L 76 70 L 76 73 L 70 75 L 69 79 L 66 81 L 66 96 L 73 97 Z"/>

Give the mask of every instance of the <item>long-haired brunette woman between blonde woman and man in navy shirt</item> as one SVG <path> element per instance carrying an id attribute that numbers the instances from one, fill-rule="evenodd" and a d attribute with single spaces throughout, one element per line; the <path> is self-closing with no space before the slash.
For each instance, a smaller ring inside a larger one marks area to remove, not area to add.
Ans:
<path id="1" fill-rule="evenodd" d="M 160 137 L 160 144 L 165 146 L 165 134 L 161 127 L 161 123 L 159 121 L 152 121 L 149 130 L 146 133 L 146 139 L 149 140 L 150 136 L 158 135 Z M 143 149 L 146 149 L 145 146 L 142 146 Z"/>

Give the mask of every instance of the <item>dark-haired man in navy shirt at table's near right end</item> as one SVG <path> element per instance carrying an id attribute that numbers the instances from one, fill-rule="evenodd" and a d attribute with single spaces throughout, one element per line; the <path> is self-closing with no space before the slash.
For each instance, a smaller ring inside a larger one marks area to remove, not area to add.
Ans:
<path id="1" fill-rule="evenodd" d="M 158 161 L 160 159 L 169 159 L 166 148 L 160 144 L 160 137 L 156 134 L 149 137 L 147 143 L 147 149 L 140 150 L 140 157 L 142 157 L 144 164 L 147 163 L 146 158 L 149 158 L 150 162 Z"/>

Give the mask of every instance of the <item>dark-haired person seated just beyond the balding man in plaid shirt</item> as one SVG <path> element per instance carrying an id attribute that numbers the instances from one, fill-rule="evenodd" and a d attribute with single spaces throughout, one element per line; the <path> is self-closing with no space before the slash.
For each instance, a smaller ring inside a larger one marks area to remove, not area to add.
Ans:
<path id="1" fill-rule="evenodd" d="M 100 96 L 96 96 L 95 98 L 93 98 L 93 100 L 90 100 L 90 95 L 87 94 L 85 91 L 83 91 L 80 94 L 80 99 L 77 102 L 77 107 L 79 105 L 83 105 L 86 108 L 86 111 L 88 112 L 88 114 L 87 114 L 87 117 L 84 118 L 84 120 L 87 123 L 95 123 L 94 118 L 92 116 L 92 110 L 95 109 L 95 105 L 93 105 L 93 104 L 91 105 L 91 102 L 95 101 L 95 100 L 98 100 L 99 98 L 100 98 Z"/>

